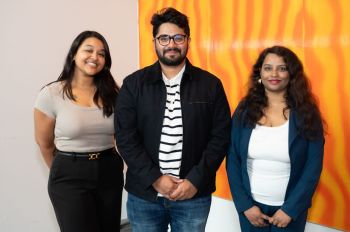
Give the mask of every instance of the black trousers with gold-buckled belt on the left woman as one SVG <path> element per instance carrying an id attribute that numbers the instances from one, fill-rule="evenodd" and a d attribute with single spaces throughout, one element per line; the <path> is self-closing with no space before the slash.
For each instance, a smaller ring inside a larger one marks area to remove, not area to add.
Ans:
<path id="1" fill-rule="evenodd" d="M 120 231 L 123 160 L 56 155 L 48 192 L 62 232 Z"/>

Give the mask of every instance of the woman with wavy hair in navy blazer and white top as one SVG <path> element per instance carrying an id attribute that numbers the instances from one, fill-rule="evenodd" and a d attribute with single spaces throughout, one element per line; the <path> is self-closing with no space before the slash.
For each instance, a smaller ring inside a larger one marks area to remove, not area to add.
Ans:
<path id="1" fill-rule="evenodd" d="M 301 61 L 288 48 L 265 49 L 233 115 L 226 162 L 242 231 L 304 231 L 323 152 L 323 120 Z"/>

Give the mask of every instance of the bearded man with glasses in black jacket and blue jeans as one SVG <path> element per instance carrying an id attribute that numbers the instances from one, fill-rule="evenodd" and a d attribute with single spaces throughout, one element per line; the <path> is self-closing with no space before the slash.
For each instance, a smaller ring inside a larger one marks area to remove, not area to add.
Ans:
<path id="1" fill-rule="evenodd" d="M 204 231 L 229 105 L 220 80 L 186 58 L 187 16 L 166 8 L 151 23 L 158 61 L 125 78 L 115 113 L 128 218 L 136 232 Z"/>

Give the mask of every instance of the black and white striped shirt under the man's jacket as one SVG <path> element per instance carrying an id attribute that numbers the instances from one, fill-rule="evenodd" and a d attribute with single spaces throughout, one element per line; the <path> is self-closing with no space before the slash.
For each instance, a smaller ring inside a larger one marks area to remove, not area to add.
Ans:
<path id="1" fill-rule="evenodd" d="M 180 83 L 184 71 L 185 66 L 170 80 L 163 73 L 167 96 L 162 133 L 160 136 L 159 166 L 163 174 L 177 178 L 180 177 L 182 158 L 183 128 Z"/>

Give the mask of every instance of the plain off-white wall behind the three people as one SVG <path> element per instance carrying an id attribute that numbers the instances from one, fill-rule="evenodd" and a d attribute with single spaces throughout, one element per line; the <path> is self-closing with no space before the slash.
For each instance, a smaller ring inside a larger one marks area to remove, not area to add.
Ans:
<path id="1" fill-rule="evenodd" d="M 106 37 L 121 84 L 138 68 L 137 9 L 137 0 L 1 0 L 0 231 L 59 231 L 34 142 L 35 97 L 58 77 L 73 39 L 87 29 Z M 206 231 L 239 231 L 232 202 L 214 197 Z M 308 224 L 306 231 L 335 230 Z"/>

